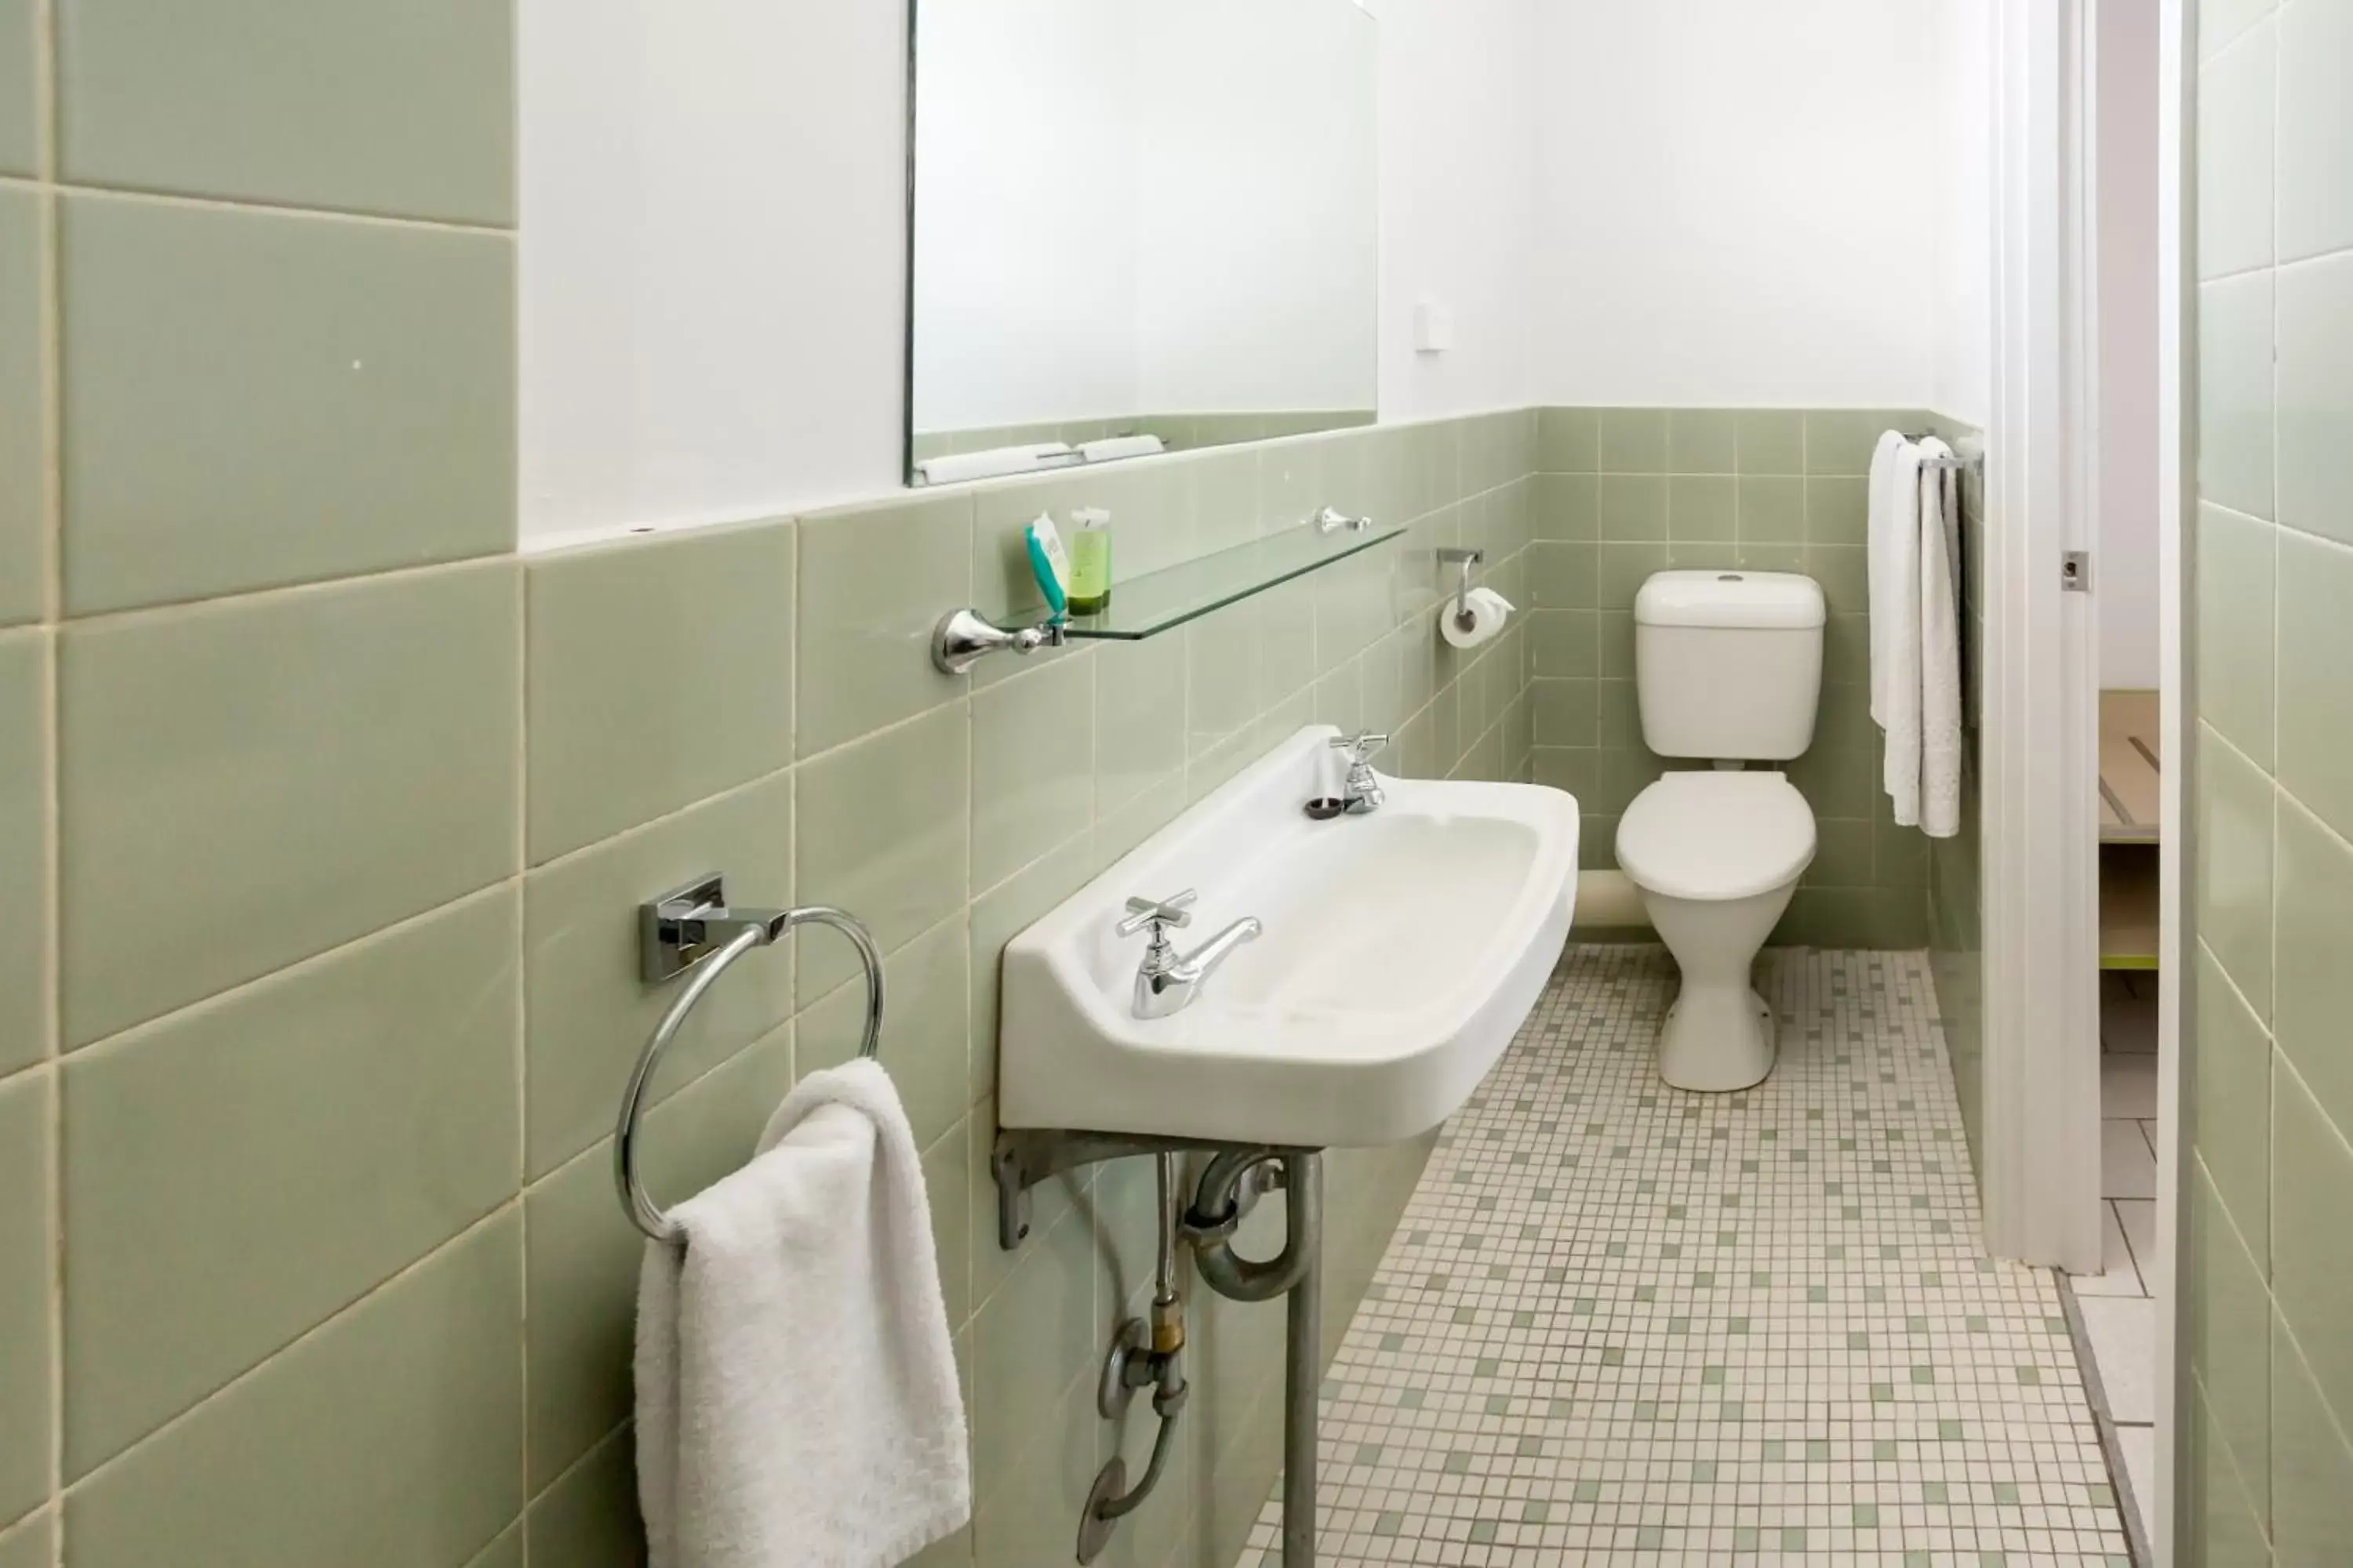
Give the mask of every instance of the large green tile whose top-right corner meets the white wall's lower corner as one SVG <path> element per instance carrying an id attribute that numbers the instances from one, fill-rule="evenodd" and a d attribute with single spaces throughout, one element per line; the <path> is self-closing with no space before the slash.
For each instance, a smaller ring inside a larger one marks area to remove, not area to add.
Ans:
<path id="1" fill-rule="evenodd" d="M 513 562 L 68 625 L 80 1046 L 518 867 Z"/>

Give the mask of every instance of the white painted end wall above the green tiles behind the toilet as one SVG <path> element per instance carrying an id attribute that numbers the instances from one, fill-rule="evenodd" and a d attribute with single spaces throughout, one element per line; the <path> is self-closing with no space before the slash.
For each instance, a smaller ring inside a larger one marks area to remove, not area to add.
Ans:
<path id="1" fill-rule="evenodd" d="M 1541 7 L 1544 402 L 1937 397 L 1937 0 Z"/>

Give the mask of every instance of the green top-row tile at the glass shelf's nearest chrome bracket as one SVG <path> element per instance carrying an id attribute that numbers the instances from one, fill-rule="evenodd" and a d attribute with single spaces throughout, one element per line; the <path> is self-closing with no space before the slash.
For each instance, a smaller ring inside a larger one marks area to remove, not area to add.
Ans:
<path id="1" fill-rule="evenodd" d="M 932 665 L 932 628 L 974 602 L 972 538 L 969 494 L 802 520 L 800 757 L 965 696 L 969 677 Z"/>

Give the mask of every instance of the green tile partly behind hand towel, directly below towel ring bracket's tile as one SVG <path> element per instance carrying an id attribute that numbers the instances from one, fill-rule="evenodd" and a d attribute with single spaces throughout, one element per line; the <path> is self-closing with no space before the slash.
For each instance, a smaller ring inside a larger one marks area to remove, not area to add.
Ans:
<path id="1" fill-rule="evenodd" d="M 751 1159 L 793 1086 L 793 1039 L 791 1027 L 776 1030 L 645 1112 L 642 1178 L 656 1204 L 680 1204 Z M 619 1098 L 614 1084 L 614 1105 Z M 633 1408 L 631 1335 L 645 1237 L 614 1199 L 609 1138 L 532 1187 L 525 1229 L 527 1443 L 536 1490 Z"/>

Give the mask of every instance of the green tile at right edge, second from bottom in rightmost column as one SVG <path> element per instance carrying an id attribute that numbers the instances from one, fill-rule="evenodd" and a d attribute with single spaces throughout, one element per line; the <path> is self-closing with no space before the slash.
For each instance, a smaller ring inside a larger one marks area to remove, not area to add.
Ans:
<path id="1" fill-rule="evenodd" d="M 2353 1410 L 2353 1150 L 2294 1072 L 2271 1074 L 2271 1288 L 2334 1410 Z"/>

